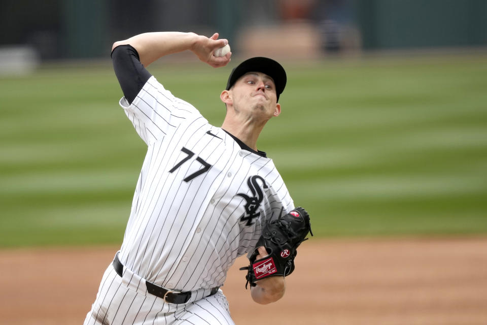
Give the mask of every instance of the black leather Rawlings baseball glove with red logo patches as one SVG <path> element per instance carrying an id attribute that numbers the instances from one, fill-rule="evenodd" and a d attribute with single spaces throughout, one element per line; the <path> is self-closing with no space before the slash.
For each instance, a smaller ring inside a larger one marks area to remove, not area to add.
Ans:
<path id="1" fill-rule="evenodd" d="M 308 213 L 301 207 L 297 207 L 286 215 L 282 210 L 277 218 L 271 218 L 263 226 L 262 235 L 257 241 L 256 249 L 252 253 L 250 265 L 240 268 L 247 270 L 247 283 L 256 286 L 256 281 L 270 276 L 288 276 L 294 271 L 294 257 L 296 248 L 306 240 L 308 232 L 311 232 Z M 268 256 L 256 260 L 257 247 L 264 246 Z"/>

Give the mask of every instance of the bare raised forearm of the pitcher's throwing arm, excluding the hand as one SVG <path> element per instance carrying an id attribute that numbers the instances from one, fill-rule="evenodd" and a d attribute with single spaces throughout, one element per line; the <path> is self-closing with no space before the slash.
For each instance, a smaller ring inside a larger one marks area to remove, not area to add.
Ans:
<path id="1" fill-rule="evenodd" d="M 133 46 L 145 67 L 164 55 L 190 50 L 198 39 L 192 32 L 147 32 L 113 44 L 112 50 L 124 44 Z"/>

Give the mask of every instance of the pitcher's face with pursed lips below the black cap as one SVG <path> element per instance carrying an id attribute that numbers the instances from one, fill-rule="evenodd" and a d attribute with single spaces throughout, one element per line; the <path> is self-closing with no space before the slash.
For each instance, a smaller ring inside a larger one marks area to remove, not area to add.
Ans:
<path id="1" fill-rule="evenodd" d="M 275 84 L 271 77 L 261 72 L 241 76 L 232 88 L 233 108 L 269 119 L 281 112 L 277 104 Z"/>

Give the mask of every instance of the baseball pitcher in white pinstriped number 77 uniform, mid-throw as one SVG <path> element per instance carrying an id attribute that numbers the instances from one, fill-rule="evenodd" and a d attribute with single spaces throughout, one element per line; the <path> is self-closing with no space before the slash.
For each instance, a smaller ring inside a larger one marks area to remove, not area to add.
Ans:
<path id="1" fill-rule="evenodd" d="M 267 304 L 283 297 L 296 248 L 310 232 L 309 216 L 295 208 L 257 138 L 281 114 L 285 70 L 265 57 L 233 69 L 220 94 L 221 127 L 146 70 L 186 50 L 224 67 L 231 52 L 214 51 L 227 43 L 218 34 L 152 32 L 113 45 L 120 106 L 147 154 L 123 243 L 85 324 L 233 324 L 220 287 L 243 254 L 252 299 Z"/>

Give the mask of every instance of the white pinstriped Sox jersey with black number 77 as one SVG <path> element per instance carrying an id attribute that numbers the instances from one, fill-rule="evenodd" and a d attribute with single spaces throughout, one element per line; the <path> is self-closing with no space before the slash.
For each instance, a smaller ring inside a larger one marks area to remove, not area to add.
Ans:
<path id="1" fill-rule="evenodd" d="M 154 77 L 120 105 L 148 145 L 122 264 L 168 289 L 221 286 L 235 258 L 255 248 L 262 222 L 294 208 L 281 175 Z"/>

